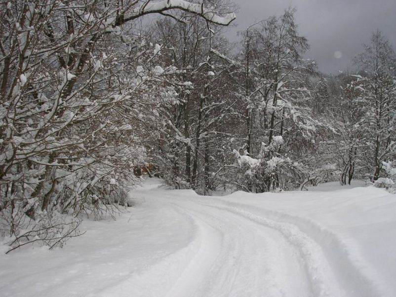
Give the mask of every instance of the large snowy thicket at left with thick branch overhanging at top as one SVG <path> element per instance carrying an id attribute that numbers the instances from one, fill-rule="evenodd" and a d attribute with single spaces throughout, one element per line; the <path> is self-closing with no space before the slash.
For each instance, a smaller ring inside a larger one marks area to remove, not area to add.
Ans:
<path id="1" fill-rule="evenodd" d="M 0 3 L 0 235 L 11 248 L 61 244 L 78 234 L 67 216 L 130 204 L 133 169 L 163 125 L 158 109 L 177 94 L 166 76 L 178 72 L 133 21 L 179 10 L 219 25 L 235 18 L 182 0 Z"/>

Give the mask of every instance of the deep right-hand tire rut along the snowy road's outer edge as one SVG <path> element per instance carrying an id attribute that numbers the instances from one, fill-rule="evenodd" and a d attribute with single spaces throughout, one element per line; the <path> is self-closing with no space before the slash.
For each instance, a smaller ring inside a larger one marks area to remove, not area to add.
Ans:
<path id="1" fill-rule="evenodd" d="M 315 296 L 386 296 L 381 284 L 367 277 L 361 269 L 356 267 L 345 244 L 331 231 L 302 218 L 260 209 L 260 212 L 264 212 L 266 216 L 264 218 L 243 210 L 242 208 L 246 208 L 243 204 L 221 199 L 218 201 L 222 204 L 200 204 L 238 214 L 253 222 L 276 229 L 295 245 L 306 261 Z M 304 224 L 305 226 L 301 227 Z M 316 235 L 312 234 L 313 229 Z"/>

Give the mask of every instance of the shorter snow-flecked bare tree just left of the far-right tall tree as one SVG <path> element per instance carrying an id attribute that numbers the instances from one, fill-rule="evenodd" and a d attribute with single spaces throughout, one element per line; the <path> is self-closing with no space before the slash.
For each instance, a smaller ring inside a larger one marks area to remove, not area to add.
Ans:
<path id="1" fill-rule="evenodd" d="M 361 175 L 358 148 L 363 134 L 358 124 L 362 112 L 354 100 L 354 92 L 350 89 L 353 77 L 340 74 L 314 82 L 315 88 L 321 89 L 323 97 L 316 96 L 313 101 L 317 122 L 314 173 L 319 173 L 321 181 L 339 181 L 341 185 L 350 184 L 354 175 Z M 326 85 L 324 85 L 326 83 Z M 319 102 L 318 102 L 319 101 Z M 315 156 L 315 155 L 314 155 Z M 322 164 L 326 164 L 322 166 Z"/>

